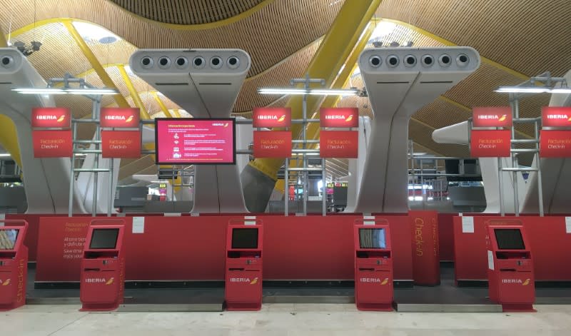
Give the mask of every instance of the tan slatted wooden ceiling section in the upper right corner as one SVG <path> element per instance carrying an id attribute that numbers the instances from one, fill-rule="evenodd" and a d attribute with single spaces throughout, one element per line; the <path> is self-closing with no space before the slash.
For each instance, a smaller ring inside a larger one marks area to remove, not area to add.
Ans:
<path id="1" fill-rule="evenodd" d="M 571 68 L 569 0 L 383 0 L 377 15 L 473 46 L 527 76 Z"/>

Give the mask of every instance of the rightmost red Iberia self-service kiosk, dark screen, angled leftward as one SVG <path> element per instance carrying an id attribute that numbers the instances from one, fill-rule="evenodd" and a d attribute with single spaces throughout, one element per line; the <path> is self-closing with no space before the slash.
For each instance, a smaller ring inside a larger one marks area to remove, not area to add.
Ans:
<path id="1" fill-rule="evenodd" d="M 489 225 L 487 278 L 490 300 L 504 312 L 535 311 L 535 277 L 522 225 Z"/>

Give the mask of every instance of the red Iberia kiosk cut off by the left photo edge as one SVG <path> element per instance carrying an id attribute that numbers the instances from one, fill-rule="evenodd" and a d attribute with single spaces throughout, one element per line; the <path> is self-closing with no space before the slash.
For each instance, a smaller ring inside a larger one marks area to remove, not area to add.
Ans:
<path id="1" fill-rule="evenodd" d="M 26 303 L 28 248 L 25 220 L 0 220 L 0 312 Z"/>

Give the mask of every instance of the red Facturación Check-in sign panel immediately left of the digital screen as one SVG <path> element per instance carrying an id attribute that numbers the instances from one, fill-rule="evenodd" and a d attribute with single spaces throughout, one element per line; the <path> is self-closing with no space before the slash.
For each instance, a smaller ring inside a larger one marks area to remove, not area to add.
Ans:
<path id="1" fill-rule="evenodd" d="M 103 158 L 140 158 L 141 131 L 101 131 Z"/>

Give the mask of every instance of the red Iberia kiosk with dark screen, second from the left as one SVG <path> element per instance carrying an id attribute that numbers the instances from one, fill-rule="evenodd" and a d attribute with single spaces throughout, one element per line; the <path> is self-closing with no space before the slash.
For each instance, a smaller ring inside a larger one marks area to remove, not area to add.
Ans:
<path id="1" fill-rule="evenodd" d="M 123 303 L 124 228 L 122 219 L 91 221 L 81 260 L 81 311 L 116 310 Z"/>

